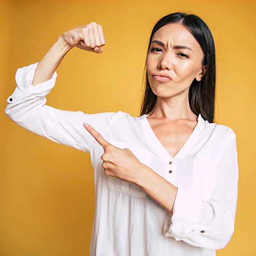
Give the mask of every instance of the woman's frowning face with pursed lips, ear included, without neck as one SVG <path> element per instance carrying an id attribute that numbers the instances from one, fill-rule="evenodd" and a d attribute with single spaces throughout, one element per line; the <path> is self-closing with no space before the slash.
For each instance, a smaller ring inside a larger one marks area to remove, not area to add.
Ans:
<path id="1" fill-rule="evenodd" d="M 191 50 L 175 49 L 177 45 Z M 170 97 L 184 91 L 187 93 L 192 81 L 195 78 L 200 81 L 205 74 L 206 70 L 201 66 L 203 56 L 200 45 L 183 25 L 169 23 L 158 29 L 146 58 L 148 81 L 154 94 Z M 159 76 L 153 77 L 154 73 L 167 74 L 172 80 L 157 81 Z"/>

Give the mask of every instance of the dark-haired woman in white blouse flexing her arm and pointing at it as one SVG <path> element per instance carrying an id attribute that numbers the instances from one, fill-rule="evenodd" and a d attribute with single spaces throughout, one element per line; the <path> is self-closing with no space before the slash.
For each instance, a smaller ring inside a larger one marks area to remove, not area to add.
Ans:
<path id="1" fill-rule="evenodd" d="M 208 26 L 181 12 L 156 23 L 139 117 L 47 106 L 67 52 L 100 54 L 104 45 L 95 22 L 65 32 L 39 63 L 17 70 L 6 114 L 35 134 L 90 153 L 91 256 L 216 255 L 234 232 L 239 171 L 236 134 L 213 123 L 215 45 Z"/>

